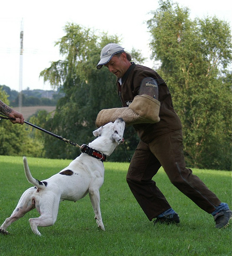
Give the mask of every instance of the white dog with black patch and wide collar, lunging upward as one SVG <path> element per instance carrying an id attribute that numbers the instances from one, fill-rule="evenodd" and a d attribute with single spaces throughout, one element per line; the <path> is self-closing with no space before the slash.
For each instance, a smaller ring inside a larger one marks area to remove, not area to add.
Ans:
<path id="1" fill-rule="evenodd" d="M 80 154 L 66 168 L 40 182 L 31 176 L 27 159 L 24 157 L 24 169 L 28 182 L 35 187 L 22 194 L 13 214 L 0 227 L 0 233 L 8 234 L 6 228 L 23 217 L 28 211 L 36 208 L 38 218 L 29 219 L 32 231 L 39 236 L 38 227 L 52 226 L 57 218 L 61 200 L 77 201 L 89 193 L 95 219 L 100 229 L 105 230 L 100 211 L 99 189 L 104 180 L 103 161 L 113 153 L 117 145 L 123 143 L 125 122 L 117 119 L 114 123 L 101 126 L 93 132 L 98 136 L 94 141 L 83 145 Z M 101 160 L 101 161 L 99 161 Z"/>

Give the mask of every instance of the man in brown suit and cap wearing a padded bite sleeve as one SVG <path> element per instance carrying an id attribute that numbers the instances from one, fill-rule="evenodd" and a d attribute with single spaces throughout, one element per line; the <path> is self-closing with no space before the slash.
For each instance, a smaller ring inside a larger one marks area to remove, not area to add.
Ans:
<path id="1" fill-rule="evenodd" d="M 225 228 L 232 218 L 221 202 L 192 170 L 185 168 L 181 122 L 173 109 L 171 94 L 159 74 L 135 65 L 131 56 L 117 44 L 101 50 L 97 69 L 106 66 L 118 78 L 118 94 L 123 108 L 101 110 L 96 125 L 117 118 L 133 125 L 141 141 L 132 157 L 126 181 L 145 212 L 154 223 L 179 223 L 178 214 L 152 180 L 163 166 L 171 183 L 200 208 L 212 214 L 216 228 Z"/>

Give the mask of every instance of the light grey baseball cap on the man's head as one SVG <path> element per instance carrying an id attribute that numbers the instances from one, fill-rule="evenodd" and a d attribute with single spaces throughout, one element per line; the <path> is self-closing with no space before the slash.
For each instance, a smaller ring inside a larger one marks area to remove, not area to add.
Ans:
<path id="1" fill-rule="evenodd" d="M 123 52 L 124 48 L 117 44 L 108 44 L 101 50 L 100 61 L 98 62 L 97 69 L 108 63 L 115 54 Z"/>

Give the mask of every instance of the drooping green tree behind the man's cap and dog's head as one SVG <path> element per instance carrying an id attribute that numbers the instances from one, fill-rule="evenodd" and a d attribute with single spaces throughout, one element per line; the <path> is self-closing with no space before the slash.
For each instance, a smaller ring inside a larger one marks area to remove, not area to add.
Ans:
<path id="1" fill-rule="evenodd" d="M 44 81 L 49 81 L 54 88 L 61 88 L 65 94 L 57 103 L 54 117 L 46 125 L 53 133 L 82 145 L 94 139 L 92 131 L 96 129 L 98 112 L 121 106 L 113 74 L 107 68 L 96 69 L 102 47 L 119 39 L 107 34 L 97 36 L 96 31 L 76 24 L 68 23 L 64 30 L 66 35 L 56 42 L 63 60 L 52 62 L 40 74 Z M 136 58 L 142 60 L 139 52 L 136 52 Z M 130 151 L 137 138 L 132 128 L 127 129 L 127 134 L 127 150 Z M 79 154 L 78 148 L 54 138 L 45 140 L 45 151 L 50 158 L 74 158 Z M 122 147 L 118 147 L 113 155 L 114 161 L 126 160 Z"/>

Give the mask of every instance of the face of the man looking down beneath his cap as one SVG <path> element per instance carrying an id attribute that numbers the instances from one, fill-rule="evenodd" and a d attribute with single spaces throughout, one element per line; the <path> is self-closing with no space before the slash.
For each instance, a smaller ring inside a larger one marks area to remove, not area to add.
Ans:
<path id="1" fill-rule="evenodd" d="M 115 74 L 117 78 L 122 78 L 130 65 L 130 61 L 126 59 L 126 54 L 123 52 L 120 56 L 113 56 L 104 66 L 107 67 L 110 72 Z"/>

